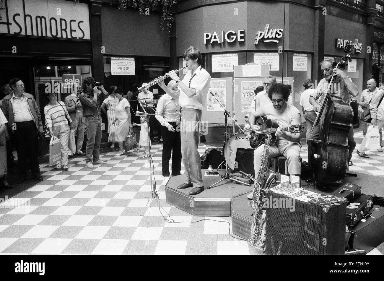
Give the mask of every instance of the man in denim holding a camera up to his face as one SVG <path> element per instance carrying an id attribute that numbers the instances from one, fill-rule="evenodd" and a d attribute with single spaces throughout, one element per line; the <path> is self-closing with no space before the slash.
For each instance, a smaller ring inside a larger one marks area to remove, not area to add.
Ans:
<path id="1" fill-rule="evenodd" d="M 101 142 L 101 109 L 99 99 L 103 98 L 104 87 L 101 83 L 95 82 L 93 77 L 87 77 L 83 82 L 83 91 L 79 96 L 83 106 L 83 116 L 87 132 L 86 167 L 93 169 L 93 164 L 106 164 L 99 159 Z M 104 90 L 105 91 L 105 90 Z M 105 91 L 106 92 L 106 91 Z M 108 93 L 106 93 L 108 95 Z M 92 163 L 93 160 L 93 163 Z"/>

